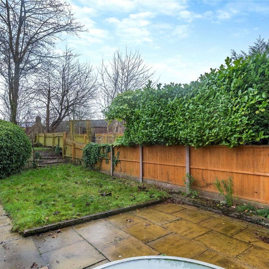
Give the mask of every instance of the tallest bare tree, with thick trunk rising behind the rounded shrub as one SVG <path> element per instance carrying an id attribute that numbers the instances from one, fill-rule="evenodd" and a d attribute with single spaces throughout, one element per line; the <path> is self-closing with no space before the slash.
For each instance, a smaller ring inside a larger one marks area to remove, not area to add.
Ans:
<path id="1" fill-rule="evenodd" d="M 17 123 L 21 78 L 35 72 L 61 33 L 82 26 L 70 6 L 58 0 L 0 0 L 0 74 L 8 86 L 10 120 Z"/>

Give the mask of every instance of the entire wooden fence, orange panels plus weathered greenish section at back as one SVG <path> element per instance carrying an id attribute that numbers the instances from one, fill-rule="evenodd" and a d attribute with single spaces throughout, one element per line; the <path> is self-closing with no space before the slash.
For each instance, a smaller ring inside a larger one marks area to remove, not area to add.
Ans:
<path id="1" fill-rule="evenodd" d="M 36 142 L 52 146 L 52 134 L 38 134 Z M 83 147 L 54 133 L 54 145 L 59 139 L 63 157 L 73 162 L 83 159 Z M 45 142 L 44 142 L 45 139 Z M 118 162 L 113 166 L 113 158 Z M 193 188 L 201 196 L 218 198 L 215 179 L 233 178 L 234 197 L 244 201 L 269 204 L 269 145 L 242 145 L 229 149 L 226 146 L 206 146 L 195 149 L 183 145 L 150 145 L 115 147 L 96 165 L 97 170 L 117 177 L 153 183 L 171 189 L 185 187 L 184 177 L 195 178 Z"/>

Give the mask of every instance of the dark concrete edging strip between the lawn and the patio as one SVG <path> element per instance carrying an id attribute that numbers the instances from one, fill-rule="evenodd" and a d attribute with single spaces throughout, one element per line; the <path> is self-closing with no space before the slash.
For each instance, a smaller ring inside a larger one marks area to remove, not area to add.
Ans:
<path id="1" fill-rule="evenodd" d="M 25 229 L 22 231 L 22 235 L 29 236 L 29 235 L 41 234 L 41 233 L 45 233 L 45 232 L 48 232 L 51 230 L 56 230 L 56 229 L 64 228 L 67 226 L 81 224 L 81 223 L 91 221 L 94 219 L 100 219 L 100 218 L 116 215 L 119 213 L 127 212 L 130 210 L 135 210 L 135 209 L 150 206 L 150 205 L 156 205 L 156 204 L 162 203 L 170 198 L 171 197 L 166 197 L 163 199 L 149 201 L 149 202 L 145 202 L 145 203 L 141 203 L 141 204 L 137 204 L 137 205 L 131 205 L 131 206 L 124 207 L 124 208 L 117 208 L 117 209 L 112 209 L 112 210 L 108 210 L 108 211 L 101 212 L 101 213 L 86 215 L 86 216 L 82 216 L 78 219 L 67 219 L 67 220 L 63 220 L 60 222 L 56 222 L 56 223 L 51 223 L 51 224 L 47 224 L 47 225 L 43 225 L 43 226 L 39 226 L 39 227 L 35 227 L 35 228 L 30 228 L 30 229 Z"/>

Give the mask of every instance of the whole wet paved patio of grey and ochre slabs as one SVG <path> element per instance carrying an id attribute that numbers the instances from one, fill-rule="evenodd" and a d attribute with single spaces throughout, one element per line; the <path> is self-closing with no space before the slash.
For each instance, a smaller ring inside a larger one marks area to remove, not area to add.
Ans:
<path id="1" fill-rule="evenodd" d="M 0 268 L 94 268 L 122 258 L 192 258 L 230 269 L 269 268 L 269 230 L 195 207 L 159 204 L 23 238 L 0 208 Z"/>

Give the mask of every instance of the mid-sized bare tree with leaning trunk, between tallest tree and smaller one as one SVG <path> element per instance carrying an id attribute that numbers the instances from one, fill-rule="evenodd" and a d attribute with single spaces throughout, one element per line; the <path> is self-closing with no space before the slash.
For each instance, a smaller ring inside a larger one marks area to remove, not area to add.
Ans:
<path id="1" fill-rule="evenodd" d="M 78 55 L 65 50 L 62 57 L 47 66 L 39 76 L 35 99 L 46 118 L 46 130 L 53 132 L 64 119 L 76 119 L 89 113 L 97 97 L 97 78 L 88 63 L 81 64 Z"/>

